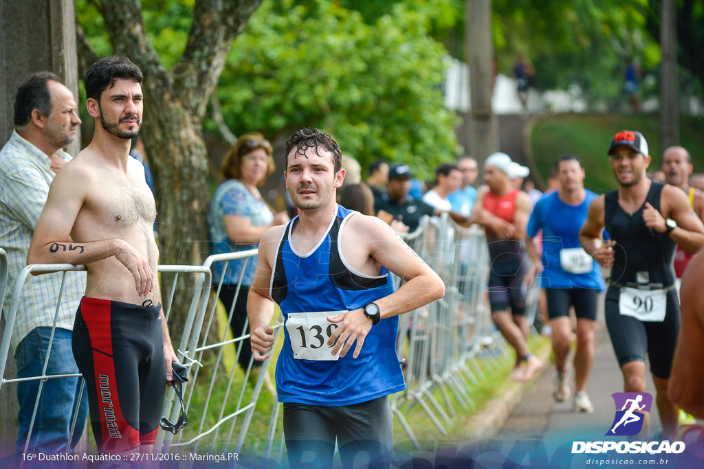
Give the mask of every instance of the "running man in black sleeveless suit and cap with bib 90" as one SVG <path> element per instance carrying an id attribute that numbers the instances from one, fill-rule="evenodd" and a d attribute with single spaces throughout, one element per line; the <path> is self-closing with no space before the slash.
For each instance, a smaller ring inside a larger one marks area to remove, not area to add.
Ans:
<path id="1" fill-rule="evenodd" d="M 681 189 L 646 177 L 650 155 L 640 132 L 620 131 L 608 153 L 620 187 L 589 205 L 579 240 L 599 264 L 611 267 L 604 311 L 624 391 L 645 392 L 647 355 L 667 438 L 677 427 L 678 414 L 667 396 L 680 323 L 672 259 L 676 245 L 687 252 L 704 245 L 704 225 Z M 600 247 L 604 227 L 611 239 Z M 647 414 L 644 420 L 647 434 Z"/>

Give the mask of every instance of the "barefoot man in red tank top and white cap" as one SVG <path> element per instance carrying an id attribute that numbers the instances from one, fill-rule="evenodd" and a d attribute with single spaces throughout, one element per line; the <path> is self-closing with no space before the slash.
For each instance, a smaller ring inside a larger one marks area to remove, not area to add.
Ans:
<path id="1" fill-rule="evenodd" d="M 503 337 L 516 350 L 516 366 L 511 377 L 527 381 L 543 364 L 527 343 L 525 317 L 526 275 L 522 240 L 530 216 L 528 195 L 511 186 L 511 159 L 505 153 L 493 153 L 484 161 L 484 182 L 479 188 L 474 213 L 477 223 L 486 229 L 491 272 L 489 303 L 491 319 Z M 510 306 L 511 311 L 508 312 Z"/>

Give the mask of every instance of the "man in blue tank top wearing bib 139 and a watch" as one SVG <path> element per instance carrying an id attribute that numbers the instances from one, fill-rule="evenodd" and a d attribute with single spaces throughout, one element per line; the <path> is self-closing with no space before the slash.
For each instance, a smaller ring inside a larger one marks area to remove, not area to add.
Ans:
<path id="1" fill-rule="evenodd" d="M 276 384 L 291 467 L 329 467 L 336 441 L 346 467 L 360 452 L 384 467 L 393 443 L 387 396 L 406 389 L 398 315 L 441 298 L 444 283 L 384 221 L 335 203 L 345 170 L 332 136 L 298 130 L 286 154 L 298 217 L 261 239 L 247 301 L 252 352 L 269 357 L 276 302 L 285 319 Z M 398 291 L 391 272 L 404 280 Z M 314 461 L 303 463 L 310 454 Z"/>

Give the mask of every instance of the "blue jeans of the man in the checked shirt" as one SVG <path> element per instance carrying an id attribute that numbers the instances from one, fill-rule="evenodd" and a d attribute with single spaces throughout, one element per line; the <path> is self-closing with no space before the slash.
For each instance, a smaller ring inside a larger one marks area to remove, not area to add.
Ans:
<path id="1" fill-rule="evenodd" d="M 44 369 L 46 351 L 49 349 L 50 327 L 34 328 L 20 342 L 15 351 L 18 378 L 41 376 Z M 65 375 L 78 373 L 78 367 L 71 351 L 71 331 L 56 328 L 51 355 L 46 367 L 46 375 Z M 25 451 L 25 441 L 30 430 L 34 403 L 37 401 L 40 380 L 20 381 L 17 385 L 17 398 L 20 401 L 20 432 L 17 437 L 16 450 Z M 55 454 L 65 451 L 70 435 L 71 423 L 76 411 L 82 378 L 51 378 L 42 386 L 42 396 L 34 418 L 29 452 Z M 80 409 L 73 430 L 71 448 L 80 439 L 88 414 L 88 395 L 83 391 Z"/>

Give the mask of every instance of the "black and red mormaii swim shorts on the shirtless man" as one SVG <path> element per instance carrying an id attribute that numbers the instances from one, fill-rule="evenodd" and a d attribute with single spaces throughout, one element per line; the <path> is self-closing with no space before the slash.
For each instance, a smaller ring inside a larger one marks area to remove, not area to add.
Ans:
<path id="1" fill-rule="evenodd" d="M 73 356 L 86 380 L 99 451 L 153 444 L 164 405 L 161 304 L 83 297 L 73 324 Z"/>

